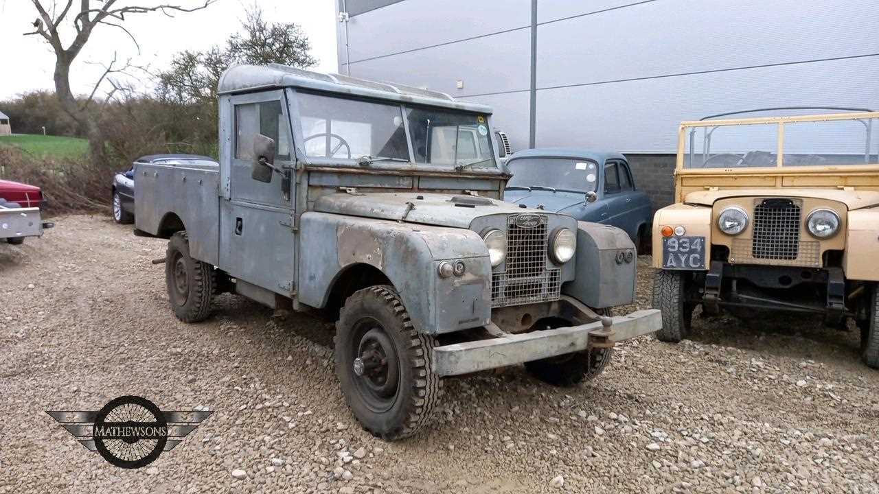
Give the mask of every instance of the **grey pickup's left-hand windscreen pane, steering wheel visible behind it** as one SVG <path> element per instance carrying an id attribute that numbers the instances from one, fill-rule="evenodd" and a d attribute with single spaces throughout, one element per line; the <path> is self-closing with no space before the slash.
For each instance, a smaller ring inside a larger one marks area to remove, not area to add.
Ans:
<path id="1" fill-rule="evenodd" d="M 312 157 L 380 156 L 409 161 L 400 105 L 297 94 L 302 144 Z"/>

